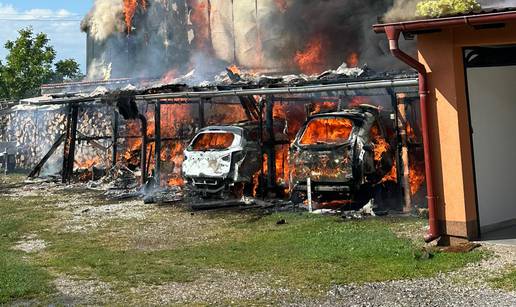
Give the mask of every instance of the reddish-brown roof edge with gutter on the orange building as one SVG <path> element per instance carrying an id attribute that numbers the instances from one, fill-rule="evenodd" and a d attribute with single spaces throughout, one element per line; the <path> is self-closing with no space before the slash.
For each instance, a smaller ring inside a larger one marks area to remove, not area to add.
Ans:
<path id="1" fill-rule="evenodd" d="M 508 22 L 516 22 L 516 10 L 375 24 L 373 25 L 373 30 L 376 33 L 385 33 L 386 28 L 395 28 L 401 32 L 428 33 L 451 27 L 483 27 L 488 25 L 505 24 Z"/>

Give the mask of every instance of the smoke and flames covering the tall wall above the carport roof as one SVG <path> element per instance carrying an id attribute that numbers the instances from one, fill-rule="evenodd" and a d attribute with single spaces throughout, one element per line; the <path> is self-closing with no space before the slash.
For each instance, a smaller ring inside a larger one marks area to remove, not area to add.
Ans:
<path id="1" fill-rule="evenodd" d="M 202 81 L 232 64 L 299 73 L 296 54 L 314 40 L 321 45 L 320 72 L 354 53 L 373 70 L 399 69 L 385 38 L 371 29 L 392 5 L 393 0 L 150 0 L 136 11 L 128 35 L 122 1 L 97 0 L 84 23 L 90 34 L 88 75 L 161 78 L 195 70 L 193 79 Z"/>

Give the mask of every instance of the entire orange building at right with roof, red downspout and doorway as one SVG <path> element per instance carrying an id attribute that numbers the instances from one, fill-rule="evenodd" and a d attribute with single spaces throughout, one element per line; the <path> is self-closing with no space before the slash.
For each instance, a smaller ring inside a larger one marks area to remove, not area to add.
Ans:
<path id="1" fill-rule="evenodd" d="M 515 227 L 516 10 L 378 24 L 374 31 L 386 33 L 392 54 L 420 75 L 431 179 L 427 239 L 451 244 Z M 400 50 L 401 34 L 417 36 L 417 60 Z"/>

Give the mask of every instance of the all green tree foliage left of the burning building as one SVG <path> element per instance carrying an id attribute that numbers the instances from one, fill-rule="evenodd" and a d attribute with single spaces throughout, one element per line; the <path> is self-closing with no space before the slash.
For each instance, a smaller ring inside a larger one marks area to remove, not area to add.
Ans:
<path id="1" fill-rule="evenodd" d="M 6 63 L 0 63 L 0 99 L 18 100 L 39 95 L 44 83 L 77 80 L 82 77 L 79 64 L 72 59 L 53 63 L 56 51 L 46 34 L 32 28 L 18 31 L 15 41 L 7 41 Z"/>

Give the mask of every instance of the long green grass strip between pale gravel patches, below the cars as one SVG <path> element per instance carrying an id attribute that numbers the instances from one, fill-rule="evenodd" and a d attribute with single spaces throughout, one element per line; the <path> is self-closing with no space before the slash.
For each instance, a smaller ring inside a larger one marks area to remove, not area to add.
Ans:
<path id="1" fill-rule="evenodd" d="M 286 218 L 287 225 L 276 221 Z M 171 250 L 115 251 L 99 237 L 62 235 L 49 249 L 50 267 L 105 281 L 161 284 L 193 281 L 204 270 L 272 273 L 288 285 L 325 291 L 331 284 L 431 276 L 482 258 L 480 252 L 436 254 L 417 260 L 418 246 L 396 237 L 394 220 L 341 222 L 298 214 L 275 214 L 235 223 L 228 238 Z M 243 232 L 245 236 L 233 236 Z M 56 239 L 56 238 L 54 238 Z"/>

